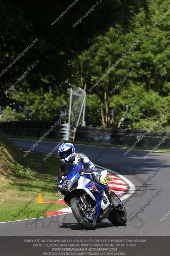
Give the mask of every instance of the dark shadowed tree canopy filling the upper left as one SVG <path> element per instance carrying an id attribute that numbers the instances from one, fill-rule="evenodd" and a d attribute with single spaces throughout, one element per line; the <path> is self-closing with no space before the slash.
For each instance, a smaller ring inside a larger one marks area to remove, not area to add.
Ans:
<path id="1" fill-rule="evenodd" d="M 32 92 L 40 87 L 45 92 L 49 92 L 53 88 L 55 91 L 57 87 L 58 96 L 62 94 L 69 85 L 65 81 L 68 81 L 72 75 L 72 63 L 84 49 L 92 44 L 91 39 L 104 33 L 117 22 L 125 26 L 130 17 L 138 12 L 146 1 L 105 0 L 99 1 L 96 5 L 96 1 L 79 0 L 61 16 L 61 13 L 71 3 L 72 1 L 66 0 L 55 2 L 49 0 L 48 4 L 46 2 L 40 4 L 35 0 L 14 0 L 13 2 L 0 0 L 2 17 L 0 24 L 2 35 L 0 41 L 0 102 L 2 109 L 7 105 L 13 108 L 11 92 L 6 95 L 5 91 L 24 72 L 28 71 L 36 60 L 39 63 L 20 83 L 15 85 L 15 89 L 18 91 L 26 84 Z M 90 14 L 83 19 L 83 22 L 74 28 L 72 25 L 80 20 L 94 4 L 96 5 L 94 10 L 89 12 Z M 57 21 L 58 17 L 61 18 Z M 4 72 L 3 70 L 36 38 L 38 41 L 32 45 L 29 52 L 24 53 L 24 56 Z"/>

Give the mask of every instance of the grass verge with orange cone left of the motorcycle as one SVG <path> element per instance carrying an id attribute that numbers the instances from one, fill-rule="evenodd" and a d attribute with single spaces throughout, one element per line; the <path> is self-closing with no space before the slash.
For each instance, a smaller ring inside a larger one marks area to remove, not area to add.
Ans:
<path id="1" fill-rule="evenodd" d="M 22 152 L 18 153 L 21 158 L 24 158 Z M 43 189 L 44 202 L 57 202 L 61 198 L 57 196 L 56 189 L 60 160 L 51 156 L 49 161 L 47 159 L 45 163 L 42 163 L 42 156 L 42 154 L 34 153 L 27 156 L 27 159 L 24 158 L 24 162 L 20 162 L 33 170 L 36 173 L 35 177 L 19 178 L 8 175 L 3 179 L 0 185 L 0 222 L 45 217 L 48 215 L 42 214 L 43 211 L 52 212 L 63 208 L 60 204 L 36 204 L 38 200 L 36 194 L 41 189 Z M 0 178 L 3 178 L 2 174 Z M 28 205 L 33 198 L 34 200 Z M 67 206 L 64 207 L 67 208 Z"/>

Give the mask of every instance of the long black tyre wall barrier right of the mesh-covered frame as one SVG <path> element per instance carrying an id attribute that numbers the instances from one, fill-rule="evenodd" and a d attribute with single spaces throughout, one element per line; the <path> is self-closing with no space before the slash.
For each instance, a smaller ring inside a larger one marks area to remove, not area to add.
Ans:
<path id="1" fill-rule="evenodd" d="M 143 129 L 123 130 L 78 126 L 75 140 L 125 146 L 132 146 L 137 142 L 138 147 L 146 148 L 154 148 L 159 143 L 158 148 L 170 149 L 170 132 L 168 136 L 166 132 L 145 132 L 147 131 Z M 143 139 L 139 139 L 141 136 L 144 136 Z M 163 138 L 165 139 L 162 140 Z"/>

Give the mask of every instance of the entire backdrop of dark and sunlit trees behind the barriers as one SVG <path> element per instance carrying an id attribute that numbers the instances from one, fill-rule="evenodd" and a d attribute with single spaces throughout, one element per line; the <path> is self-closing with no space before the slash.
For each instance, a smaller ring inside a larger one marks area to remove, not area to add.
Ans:
<path id="1" fill-rule="evenodd" d="M 169 109 L 170 12 L 161 18 L 169 10 L 169 1 L 102 1 L 76 28 L 71 24 L 92 3 L 90 0 L 78 2 L 61 20 L 49 25 L 67 8 L 66 1 L 61 5 L 59 2 L 49 2 L 46 8 L 44 4 L 40 7 L 37 1 L 19 1 L 15 7 L 10 1 L 2 3 L 1 68 L 22 52 L 18 40 L 23 33 L 23 49 L 27 42 L 34 40 L 32 35 L 39 39 L 29 54 L 11 67 L 10 77 L 9 71 L 1 77 L 2 92 L 35 60 L 39 64 L 7 95 L 2 93 L 2 108 L 10 105 L 11 109 L 4 109 L 1 121 L 8 120 L 14 113 L 12 120 L 58 119 L 68 110 L 67 89 L 72 85 L 86 90 L 86 125 L 148 129 Z M 12 8 L 16 11 L 14 14 Z M 13 22 L 6 22 L 7 12 Z M 18 27 L 11 38 L 14 26 Z M 134 49 L 111 68 L 131 47 Z M 137 63 L 139 67 L 135 66 Z M 109 74 L 92 88 L 109 69 Z M 133 73 L 119 84 L 131 70 Z M 118 89 L 110 93 L 117 84 Z M 168 114 L 155 131 L 169 131 L 169 119 Z"/>

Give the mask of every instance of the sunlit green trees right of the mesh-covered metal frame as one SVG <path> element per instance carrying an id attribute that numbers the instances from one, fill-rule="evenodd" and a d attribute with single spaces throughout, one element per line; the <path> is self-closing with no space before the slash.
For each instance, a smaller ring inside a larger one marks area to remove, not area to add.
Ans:
<path id="1" fill-rule="evenodd" d="M 93 45 L 79 56 L 75 67 L 79 76 L 75 79 L 92 97 L 98 97 L 98 108 L 92 109 L 91 116 L 98 111 L 103 126 L 148 129 L 169 109 L 170 13 L 154 26 L 168 10 L 167 0 L 152 1 L 147 15 L 141 8 L 128 27 L 117 25 L 105 35 L 96 36 Z M 99 81 L 137 41 L 134 49 Z M 139 67 L 135 66 L 137 63 Z M 130 77 L 119 84 L 131 70 Z M 98 85 L 92 88 L 97 81 Z M 117 84 L 118 89 L 110 93 Z M 168 114 L 155 131 L 169 131 L 169 119 Z M 99 122 L 94 119 L 91 124 L 98 126 Z"/>

